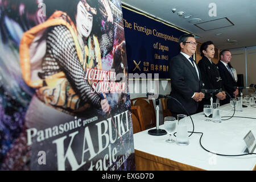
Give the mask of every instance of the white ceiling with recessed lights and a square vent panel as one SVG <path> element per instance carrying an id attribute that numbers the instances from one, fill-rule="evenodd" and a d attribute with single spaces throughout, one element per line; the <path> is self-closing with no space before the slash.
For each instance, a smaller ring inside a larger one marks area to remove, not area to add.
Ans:
<path id="1" fill-rule="evenodd" d="M 121 2 L 123 5 L 199 36 L 200 38 L 196 39 L 198 42 L 211 40 L 219 49 L 256 46 L 255 0 L 121 0 Z M 209 16 L 209 11 L 214 13 L 213 6 L 209 7 L 210 3 L 216 5 L 216 16 Z M 176 12 L 172 13 L 174 8 Z M 184 11 L 184 15 L 192 16 L 183 18 L 177 15 L 179 11 Z M 196 26 L 194 23 L 189 23 L 192 18 L 200 18 L 200 24 Z M 207 23 L 201 24 L 202 22 Z M 221 35 L 216 35 L 220 33 Z"/>

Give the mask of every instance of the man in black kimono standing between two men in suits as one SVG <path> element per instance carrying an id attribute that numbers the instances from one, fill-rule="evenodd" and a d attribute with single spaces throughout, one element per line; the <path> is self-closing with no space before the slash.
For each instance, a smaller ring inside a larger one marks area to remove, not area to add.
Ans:
<path id="1" fill-rule="evenodd" d="M 204 89 L 224 89 L 220 73 L 216 64 L 212 62 L 214 57 L 214 45 L 212 41 L 204 42 L 200 47 L 202 59 L 198 62 L 198 67 L 201 72 L 202 80 L 204 83 Z M 199 102 L 198 111 L 201 112 L 204 109 L 204 105 L 210 105 L 211 94 L 207 93 L 203 100 Z M 212 93 L 213 102 L 217 100 L 224 100 L 226 94 L 224 91 Z"/>

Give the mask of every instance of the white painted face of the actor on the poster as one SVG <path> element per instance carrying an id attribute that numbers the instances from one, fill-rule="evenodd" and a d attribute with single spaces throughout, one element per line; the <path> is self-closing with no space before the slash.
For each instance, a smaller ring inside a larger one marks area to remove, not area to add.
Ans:
<path id="1" fill-rule="evenodd" d="M 80 1 L 77 5 L 76 24 L 77 30 L 82 36 L 88 38 L 92 31 L 93 15 L 86 11 L 85 6 Z"/>

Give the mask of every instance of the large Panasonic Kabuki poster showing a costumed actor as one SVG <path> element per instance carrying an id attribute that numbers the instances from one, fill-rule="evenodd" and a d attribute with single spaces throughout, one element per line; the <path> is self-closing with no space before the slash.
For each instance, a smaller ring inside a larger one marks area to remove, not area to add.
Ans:
<path id="1" fill-rule="evenodd" d="M 120 0 L 0 0 L 0 170 L 135 170 Z"/>

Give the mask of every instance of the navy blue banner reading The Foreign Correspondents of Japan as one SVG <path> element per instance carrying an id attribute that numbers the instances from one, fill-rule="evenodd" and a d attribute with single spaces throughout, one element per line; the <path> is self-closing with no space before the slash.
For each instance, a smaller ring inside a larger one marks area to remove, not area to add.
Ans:
<path id="1" fill-rule="evenodd" d="M 179 53 L 179 37 L 185 32 L 126 7 L 122 10 L 129 73 L 158 73 L 160 79 L 169 79 L 168 62 Z"/>

